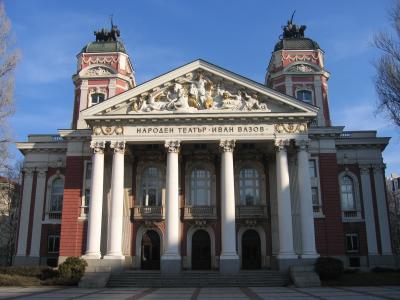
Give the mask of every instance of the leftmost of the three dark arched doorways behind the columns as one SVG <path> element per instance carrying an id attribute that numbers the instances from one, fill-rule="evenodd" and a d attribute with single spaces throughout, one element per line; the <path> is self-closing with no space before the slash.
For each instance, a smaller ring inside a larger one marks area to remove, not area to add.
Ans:
<path id="1" fill-rule="evenodd" d="M 160 236 L 154 230 L 143 234 L 141 267 L 143 270 L 160 269 Z"/>

